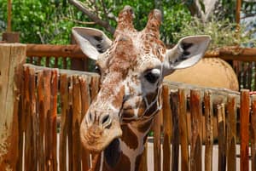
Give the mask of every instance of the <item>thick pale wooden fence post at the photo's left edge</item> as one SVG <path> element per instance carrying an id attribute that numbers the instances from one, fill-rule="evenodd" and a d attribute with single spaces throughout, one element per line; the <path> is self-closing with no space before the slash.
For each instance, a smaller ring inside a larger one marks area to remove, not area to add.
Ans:
<path id="1" fill-rule="evenodd" d="M 26 46 L 0 44 L 0 170 L 17 170 L 19 98 Z"/>

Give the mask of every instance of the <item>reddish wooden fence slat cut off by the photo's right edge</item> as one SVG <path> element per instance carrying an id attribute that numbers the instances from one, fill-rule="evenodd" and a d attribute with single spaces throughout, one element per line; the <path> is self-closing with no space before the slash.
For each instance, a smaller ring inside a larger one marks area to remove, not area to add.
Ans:
<path id="1" fill-rule="evenodd" d="M 256 171 L 256 95 L 253 95 L 253 112 L 251 116 L 251 153 L 252 153 L 252 171 Z"/>

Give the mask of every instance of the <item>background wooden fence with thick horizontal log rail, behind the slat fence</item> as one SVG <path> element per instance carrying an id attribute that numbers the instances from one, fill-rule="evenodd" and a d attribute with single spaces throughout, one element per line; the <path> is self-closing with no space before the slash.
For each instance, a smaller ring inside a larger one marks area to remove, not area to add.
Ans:
<path id="1" fill-rule="evenodd" d="M 27 63 L 37 66 L 58 67 L 89 71 L 89 59 L 77 45 L 27 44 Z M 205 58 L 229 61 L 238 77 L 240 88 L 256 90 L 256 48 L 224 47 L 208 51 Z"/>

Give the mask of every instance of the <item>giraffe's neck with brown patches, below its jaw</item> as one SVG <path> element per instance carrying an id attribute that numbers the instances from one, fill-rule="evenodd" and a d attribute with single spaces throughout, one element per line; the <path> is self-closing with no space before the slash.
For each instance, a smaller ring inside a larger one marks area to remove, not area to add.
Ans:
<path id="1" fill-rule="evenodd" d="M 151 128 L 152 118 L 122 125 L 123 136 L 96 158 L 94 171 L 137 171 Z"/>

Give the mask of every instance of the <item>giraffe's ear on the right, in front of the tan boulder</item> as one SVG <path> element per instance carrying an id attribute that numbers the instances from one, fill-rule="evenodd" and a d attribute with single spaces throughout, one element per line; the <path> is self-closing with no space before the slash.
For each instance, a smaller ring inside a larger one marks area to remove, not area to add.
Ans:
<path id="1" fill-rule="evenodd" d="M 206 53 L 211 37 L 190 36 L 180 39 L 177 45 L 166 51 L 164 75 L 177 69 L 194 66 Z"/>

